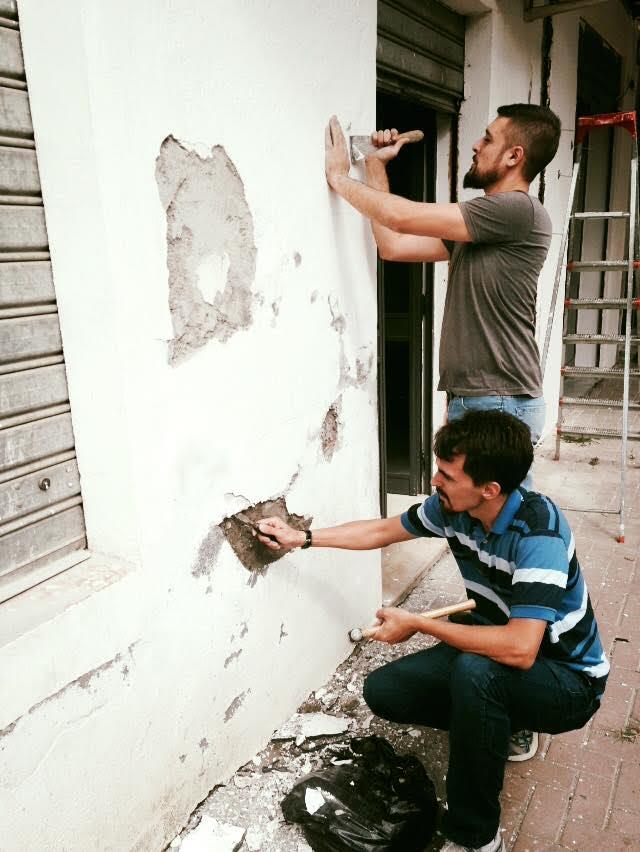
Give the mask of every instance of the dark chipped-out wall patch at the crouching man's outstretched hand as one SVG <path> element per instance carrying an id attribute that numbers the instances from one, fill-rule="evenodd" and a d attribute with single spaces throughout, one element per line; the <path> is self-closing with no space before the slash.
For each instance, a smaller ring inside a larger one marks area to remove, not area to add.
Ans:
<path id="1" fill-rule="evenodd" d="M 245 509 L 242 515 L 248 518 L 253 524 L 258 523 L 263 518 L 275 516 L 282 518 L 283 521 L 297 530 L 308 529 L 312 521 L 312 518 L 291 514 L 287 510 L 284 497 L 256 503 L 255 506 Z M 267 565 L 278 559 L 282 559 L 283 556 L 289 553 L 289 550 L 270 550 L 255 537 L 253 527 L 240 520 L 237 514 L 224 518 L 220 524 L 220 529 L 226 536 L 227 541 L 240 562 L 248 571 L 252 572 L 253 576 L 251 579 L 254 582 L 257 579 L 257 575 L 262 573 Z"/>

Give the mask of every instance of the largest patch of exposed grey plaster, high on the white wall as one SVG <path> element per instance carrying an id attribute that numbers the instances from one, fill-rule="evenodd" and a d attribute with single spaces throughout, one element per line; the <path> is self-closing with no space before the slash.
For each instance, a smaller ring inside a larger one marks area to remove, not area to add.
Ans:
<path id="1" fill-rule="evenodd" d="M 167 214 L 169 363 L 176 365 L 209 340 L 224 343 L 249 327 L 256 246 L 244 185 L 221 145 L 202 156 L 167 136 L 156 181 Z"/>

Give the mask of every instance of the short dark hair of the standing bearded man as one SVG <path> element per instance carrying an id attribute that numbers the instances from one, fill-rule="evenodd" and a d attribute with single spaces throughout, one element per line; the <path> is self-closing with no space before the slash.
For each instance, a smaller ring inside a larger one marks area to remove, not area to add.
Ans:
<path id="1" fill-rule="evenodd" d="M 509 145 L 524 148 L 524 177 L 531 182 L 556 155 L 560 142 L 560 119 L 548 107 L 535 104 L 506 104 L 498 115 L 509 119 Z"/>

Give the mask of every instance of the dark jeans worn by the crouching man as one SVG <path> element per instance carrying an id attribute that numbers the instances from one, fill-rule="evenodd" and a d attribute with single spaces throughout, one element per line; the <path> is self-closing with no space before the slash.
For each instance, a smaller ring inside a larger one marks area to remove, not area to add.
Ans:
<path id="1" fill-rule="evenodd" d="M 539 659 L 522 671 L 444 642 L 372 672 L 364 698 L 383 719 L 449 731 L 443 829 L 473 847 L 498 830 L 511 732 L 571 731 L 599 706 L 589 679 L 566 666 Z"/>

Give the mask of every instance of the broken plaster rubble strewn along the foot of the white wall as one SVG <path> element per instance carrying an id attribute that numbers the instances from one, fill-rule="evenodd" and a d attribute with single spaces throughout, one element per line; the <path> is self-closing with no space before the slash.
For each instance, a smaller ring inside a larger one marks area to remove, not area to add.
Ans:
<path id="1" fill-rule="evenodd" d="M 452 557 L 444 559 L 452 560 Z M 453 575 L 457 569 L 453 562 L 451 564 Z M 452 584 L 443 593 L 442 572 L 432 570 L 414 589 L 404 606 L 413 612 L 423 612 L 455 603 L 461 594 L 462 587 Z M 192 814 L 181 836 L 188 837 L 195 820 L 200 815 L 208 815 L 221 823 L 241 826 L 246 830 L 239 852 L 310 852 L 301 828 L 285 822 L 280 802 L 304 775 L 319 770 L 327 763 L 338 765 L 341 760 L 348 759 L 346 752 L 351 738 L 368 734 L 385 737 L 398 754 L 416 755 L 433 780 L 438 798 L 442 799 L 448 760 L 446 733 L 386 722 L 374 716 L 362 698 L 362 685 L 370 671 L 420 650 L 430 642 L 426 637 L 418 636 L 400 645 L 363 642 L 355 646 L 353 653 L 330 680 L 311 693 L 292 717 L 324 717 L 321 727 L 325 728 L 325 733 L 309 734 L 311 728 L 304 728 L 301 722 L 302 727 L 296 732 L 291 730 L 291 737 L 272 739 L 226 784 L 217 786 L 209 794 Z M 326 717 L 332 720 L 329 724 L 336 725 L 333 733 L 330 732 L 333 729 L 326 725 Z M 348 727 L 345 727 L 345 717 Z M 313 723 L 308 724 L 311 726 Z M 286 730 L 286 726 L 283 727 Z M 279 730 L 281 732 L 283 728 Z M 441 842 L 441 837 L 432 841 L 434 845 L 429 845 L 425 852 L 437 849 Z M 183 852 L 183 847 L 180 847 L 180 852 Z"/>

